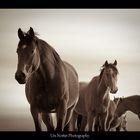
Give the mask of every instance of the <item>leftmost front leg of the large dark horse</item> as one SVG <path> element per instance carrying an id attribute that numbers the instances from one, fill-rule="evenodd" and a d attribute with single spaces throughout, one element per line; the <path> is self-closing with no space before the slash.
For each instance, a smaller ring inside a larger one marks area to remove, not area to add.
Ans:
<path id="1" fill-rule="evenodd" d="M 36 131 L 42 131 L 41 129 L 41 120 L 39 118 L 39 112 L 37 111 L 37 109 L 34 106 L 30 107 L 30 111 L 34 120 L 34 124 L 35 124 L 35 130 Z"/>

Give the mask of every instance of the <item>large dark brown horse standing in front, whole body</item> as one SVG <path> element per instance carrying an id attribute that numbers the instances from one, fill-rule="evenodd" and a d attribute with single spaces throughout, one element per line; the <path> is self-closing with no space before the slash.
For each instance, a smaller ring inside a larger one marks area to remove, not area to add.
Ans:
<path id="1" fill-rule="evenodd" d="M 78 75 L 33 28 L 27 33 L 19 28 L 18 37 L 15 79 L 25 84 L 35 129 L 41 131 L 41 116 L 47 129 L 54 130 L 50 113 L 55 112 L 56 130 L 63 131 L 79 98 Z"/>

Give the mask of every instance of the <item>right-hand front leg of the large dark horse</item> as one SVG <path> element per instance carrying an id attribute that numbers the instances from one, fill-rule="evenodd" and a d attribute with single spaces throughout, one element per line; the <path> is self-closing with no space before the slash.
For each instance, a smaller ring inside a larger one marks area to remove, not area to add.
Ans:
<path id="1" fill-rule="evenodd" d="M 67 115 L 67 102 L 62 100 L 57 108 L 57 126 L 56 131 L 63 131 L 66 115 Z"/>

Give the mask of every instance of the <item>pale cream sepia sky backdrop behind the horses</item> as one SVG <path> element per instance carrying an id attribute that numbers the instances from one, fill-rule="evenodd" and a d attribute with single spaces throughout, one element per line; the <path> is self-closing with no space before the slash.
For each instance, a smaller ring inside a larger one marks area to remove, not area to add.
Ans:
<path id="1" fill-rule="evenodd" d="M 80 81 L 117 60 L 115 97 L 140 95 L 139 9 L 0 9 L 0 131 L 34 131 L 25 86 L 14 79 L 17 30 L 30 27 L 75 67 Z M 137 115 L 128 111 L 127 120 L 129 131 L 140 131 Z"/>

